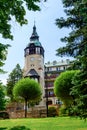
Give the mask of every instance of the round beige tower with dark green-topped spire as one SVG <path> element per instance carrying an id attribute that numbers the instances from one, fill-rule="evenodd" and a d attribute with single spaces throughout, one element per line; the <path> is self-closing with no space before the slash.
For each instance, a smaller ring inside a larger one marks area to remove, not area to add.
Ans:
<path id="1" fill-rule="evenodd" d="M 40 83 L 42 87 L 42 101 L 40 105 L 42 106 L 44 105 L 44 48 L 39 42 L 35 24 L 33 26 L 30 42 L 24 49 L 24 57 L 24 77 L 33 78 Z"/>

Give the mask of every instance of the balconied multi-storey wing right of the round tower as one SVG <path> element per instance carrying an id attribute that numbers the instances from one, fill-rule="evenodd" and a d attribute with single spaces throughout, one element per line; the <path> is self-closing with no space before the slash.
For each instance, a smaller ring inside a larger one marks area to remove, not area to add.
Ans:
<path id="1" fill-rule="evenodd" d="M 69 67 L 70 61 L 61 60 L 45 63 L 45 95 L 44 99 L 47 100 L 48 105 L 60 104 L 61 101 L 54 94 L 54 81 Z"/>

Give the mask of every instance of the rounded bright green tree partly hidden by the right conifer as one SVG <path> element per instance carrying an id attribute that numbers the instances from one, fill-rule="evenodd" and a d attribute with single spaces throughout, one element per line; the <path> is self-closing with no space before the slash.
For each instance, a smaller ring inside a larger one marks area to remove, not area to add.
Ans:
<path id="1" fill-rule="evenodd" d="M 66 107 L 73 104 L 73 96 L 70 95 L 73 87 L 72 78 L 77 71 L 71 70 L 61 73 L 54 82 L 54 93 L 59 97 Z"/>

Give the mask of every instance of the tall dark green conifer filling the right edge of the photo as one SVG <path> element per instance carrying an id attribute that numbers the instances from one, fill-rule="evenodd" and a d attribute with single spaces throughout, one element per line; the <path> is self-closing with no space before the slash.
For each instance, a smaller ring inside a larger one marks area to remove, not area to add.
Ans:
<path id="1" fill-rule="evenodd" d="M 65 13 L 67 18 L 60 18 L 56 20 L 59 28 L 71 28 L 72 31 L 68 37 L 64 37 L 61 41 L 66 42 L 66 46 L 57 49 L 57 55 L 69 55 L 76 58 L 77 65 L 81 70 L 73 87 L 73 95 L 78 100 L 75 105 L 79 116 L 82 118 L 87 117 L 87 1 L 86 0 L 63 0 Z M 85 116 L 84 116 L 85 115 Z"/>

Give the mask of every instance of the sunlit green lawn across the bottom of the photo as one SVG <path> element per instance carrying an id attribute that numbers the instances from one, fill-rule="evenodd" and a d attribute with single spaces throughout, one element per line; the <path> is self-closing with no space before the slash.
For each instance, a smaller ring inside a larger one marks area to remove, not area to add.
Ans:
<path id="1" fill-rule="evenodd" d="M 0 130 L 87 130 L 87 122 L 77 118 L 27 118 L 0 120 Z"/>

